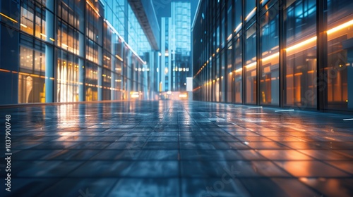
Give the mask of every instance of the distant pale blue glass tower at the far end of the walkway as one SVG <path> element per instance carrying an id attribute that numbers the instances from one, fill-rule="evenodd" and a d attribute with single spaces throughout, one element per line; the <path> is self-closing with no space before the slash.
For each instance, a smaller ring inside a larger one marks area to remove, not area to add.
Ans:
<path id="1" fill-rule="evenodd" d="M 191 77 L 191 3 L 174 1 L 161 18 L 160 91 L 186 91 Z"/>

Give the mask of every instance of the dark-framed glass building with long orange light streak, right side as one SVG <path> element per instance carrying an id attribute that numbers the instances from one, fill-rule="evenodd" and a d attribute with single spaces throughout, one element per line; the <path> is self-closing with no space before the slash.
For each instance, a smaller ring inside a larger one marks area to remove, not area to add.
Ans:
<path id="1" fill-rule="evenodd" d="M 350 0 L 200 1 L 193 98 L 352 111 L 352 28 Z"/>

